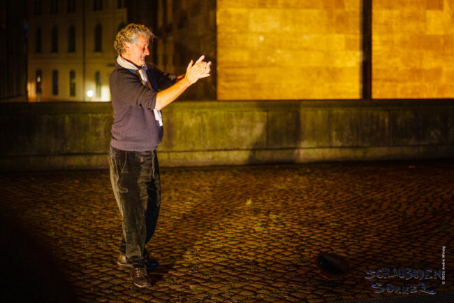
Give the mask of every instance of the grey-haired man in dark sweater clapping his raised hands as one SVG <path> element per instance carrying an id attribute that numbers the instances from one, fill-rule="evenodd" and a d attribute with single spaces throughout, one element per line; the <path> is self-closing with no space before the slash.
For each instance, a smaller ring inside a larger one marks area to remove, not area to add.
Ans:
<path id="1" fill-rule="evenodd" d="M 156 148 L 163 135 L 161 109 L 198 79 L 210 76 L 211 62 L 201 56 L 189 62 L 186 73 L 177 76 L 145 62 L 152 31 L 142 24 L 129 24 L 119 31 L 114 47 L 118 52 L 110 74 L 114 121 L 110 141 L 110 181 L 123 218 L 123 239 L 117 265 L 129 268 L 135 286 L 151 286 L 145 244 L 152 238 L 161 204 L 161 186 Z"/>

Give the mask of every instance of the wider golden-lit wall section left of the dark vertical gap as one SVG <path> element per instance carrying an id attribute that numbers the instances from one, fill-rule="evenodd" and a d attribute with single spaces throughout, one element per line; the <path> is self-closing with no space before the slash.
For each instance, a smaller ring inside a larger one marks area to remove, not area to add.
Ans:
<path id="1" fill-rule="evenodd" d="M 217 0 L 217 99 L 360 94 L 360 0 Z"/>

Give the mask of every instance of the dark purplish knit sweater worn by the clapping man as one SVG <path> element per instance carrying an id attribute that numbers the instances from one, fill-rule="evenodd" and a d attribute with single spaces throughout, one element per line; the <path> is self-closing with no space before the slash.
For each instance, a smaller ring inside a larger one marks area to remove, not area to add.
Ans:
<path id="1" fill-rule="evenodd" d="M 163 127 L 154 118 L 156 94 L 175 83 L 177 75 L 164 73 L 147 62 L 147 77 L 152 89 L 142 85 L 136 71 L 116 62 L 110 74 L 114 121 L 110 145 L 119 150 L 155 150 L 161 143 Z"/>

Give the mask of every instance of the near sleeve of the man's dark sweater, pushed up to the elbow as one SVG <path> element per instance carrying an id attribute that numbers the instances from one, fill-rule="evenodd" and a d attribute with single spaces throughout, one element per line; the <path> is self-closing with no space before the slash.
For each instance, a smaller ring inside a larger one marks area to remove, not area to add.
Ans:
<path id="1" fill-rule="evenodd" d="M 127 69 L 116 69 L 109 79 L 112 101 L 141 106 L 149 111 L 156 105 L 156 90 L 142 85 L 140 79 Z"/>

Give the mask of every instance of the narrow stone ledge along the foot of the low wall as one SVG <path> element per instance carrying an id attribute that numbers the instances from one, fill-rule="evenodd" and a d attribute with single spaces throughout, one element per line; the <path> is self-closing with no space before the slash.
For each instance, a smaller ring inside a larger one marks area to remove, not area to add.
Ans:
<path id="1" fill-rule="evenodd" d="M 246 164 L 380 161 L 451 158 L 454 146 L 397 146 L 353 148 L 285 148 L 268 150 L 159 151 L 161 167 L 196 167 Z M 108 154 L 30 155 L 3 157 L 6 171 L 108 169 Z"/>

